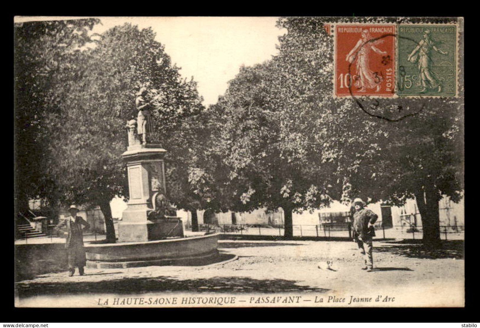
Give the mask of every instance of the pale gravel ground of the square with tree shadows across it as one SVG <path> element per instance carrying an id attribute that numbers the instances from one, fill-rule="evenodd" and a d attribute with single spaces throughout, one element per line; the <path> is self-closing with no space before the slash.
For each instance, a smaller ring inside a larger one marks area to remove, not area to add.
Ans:
<path id="1" fill-rule="evenodd" d="M 463 248 L 462 241 L 445 242 L 434 252 L 411 241 L 374 242 L 375 270 L 366 272 L 360 269 L 362 258 L 353 242 L 220 240 L 219 260 L 224 261 L 220 263 L 85 269 L 84 276 L 68 277 L 63 271 L 18 281 L 17 306 L 39 306 L 41 297 L 55 296 L 58 301 L 59 297 L 98 298 L 113 293 L 245 297 L 296 293 L 335 295 L 346 297 L 346 302 L 352 295 L 388 294 L 397 303 L 384 306 L 464 306 Z M 232 260 L 234 256 L 238 259 Z M 326 260 L 333 261 L 333 270 L 317 268 L 318 262 Z"/>

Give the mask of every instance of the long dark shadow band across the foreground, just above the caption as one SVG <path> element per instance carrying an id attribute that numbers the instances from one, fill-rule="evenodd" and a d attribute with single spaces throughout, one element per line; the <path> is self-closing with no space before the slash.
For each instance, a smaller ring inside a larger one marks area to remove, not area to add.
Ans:
<path id="1" fill-rule="evenodd" d="M 151 292 L 217 292 L 217 293 L 279 293 L 317 292 L 329 289 L 299 286 L 297 281 L 272 279 L 259 280 L 249 277 L 212 277 L 208 279 L 182 279 L 171 277 L 119 278 L 108 281 L 67 281 L 67 282 L 17 282 L 18 295 L 31 297 L 40 295 L 68 294 L 138 294 Z"/>

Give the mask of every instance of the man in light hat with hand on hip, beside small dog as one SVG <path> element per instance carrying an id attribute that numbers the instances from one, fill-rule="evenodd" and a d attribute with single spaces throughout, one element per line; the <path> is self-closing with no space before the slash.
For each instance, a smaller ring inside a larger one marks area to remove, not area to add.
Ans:
<path id="1" fill-rule="evenodd" d="M 357 242 L 360 253 L 365 258 L 363 270 L 371 272 L 373 269 L 372 237 L 375 236 L 373 223 L 378 215 L 365 208 L 365 202 L 360 198 L 353 200 L 355 213 L 353 214 L 353 240 Z"/>

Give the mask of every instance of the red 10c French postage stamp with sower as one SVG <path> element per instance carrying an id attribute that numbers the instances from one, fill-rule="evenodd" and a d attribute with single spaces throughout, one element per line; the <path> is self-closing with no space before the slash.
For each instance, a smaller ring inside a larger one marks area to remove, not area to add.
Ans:
<path id="1" fill-rule="evenodd" d="M 395 96 L 395 25 L 335 25 L 335 96 Z"/>

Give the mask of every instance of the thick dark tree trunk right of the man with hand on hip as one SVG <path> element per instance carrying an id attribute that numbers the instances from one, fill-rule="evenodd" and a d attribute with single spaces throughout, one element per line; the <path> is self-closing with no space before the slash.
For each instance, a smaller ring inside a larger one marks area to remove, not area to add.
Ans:
<path id="1" fill-rule="evenodd" d="M 434 187 L 425 187 L 415 192 L 423 228 L 423 244 L 437 248 L 440 245 L 439 196 Z"/>

